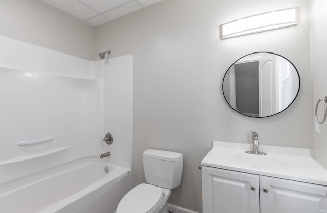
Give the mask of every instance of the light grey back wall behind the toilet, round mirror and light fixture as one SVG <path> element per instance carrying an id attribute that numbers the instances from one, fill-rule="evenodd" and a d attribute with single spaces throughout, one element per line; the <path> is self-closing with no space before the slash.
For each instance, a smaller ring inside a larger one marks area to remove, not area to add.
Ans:
<path id="1" fill-rule="evenodd" d="M 301 7 L 297 26 L 225 40 L 219 24 L 288 7 Z M 180 187 L 169 202 L 201 212 L 198 166 L 213 140 L 311 147 L 309 2 L 306 0 L 165 0 L 97 26 L 94 57 L 133 54 L 134 183 L 145 182 L 142 153 L 147 148 L 184 154 Z M 299 71 L 301 88 L 284 112 L 249 118 L 229 108 L 222 78 L 231 63 L 256 51 L 276 52 Z"/>

